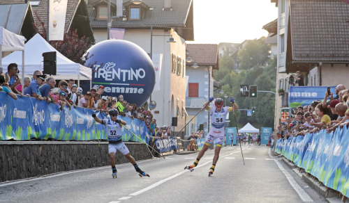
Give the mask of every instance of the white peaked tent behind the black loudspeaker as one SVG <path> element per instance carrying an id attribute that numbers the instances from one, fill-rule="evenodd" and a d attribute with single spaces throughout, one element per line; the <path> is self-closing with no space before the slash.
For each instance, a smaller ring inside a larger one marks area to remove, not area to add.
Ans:
<path id="1" fill-rule="evenodd" d="M 36 34 L 31 38 L 25 45 L 25 65 L 24 65 L 24 75 L 32 76 L 34 71 L 41 70 L 43 71 L 43 53 L 56 51 L 57 52 L 57 75 L 54 76 L 54 79 L 57 80 L 68 80 L 75 79 L 79 81 L 78 85 L 80 86 L 80 80 L 90 80 L 92 79 L 92 70 L 91 68 L 84 67 L 79 63 L 74 63 L 72 60 L 63 56 L 56 49 L 54 49 L 49 43 L 46 42 L 41 35 Z M 18 61 L 20 58 L 20 53 L 13 52 L 12 54 L 3 58 L 3 66 L 7 66 L 10 63 L 17 63 L 17 65 L 22 65 Z M 20 72 L 20 74 L 22 74 Z"/>

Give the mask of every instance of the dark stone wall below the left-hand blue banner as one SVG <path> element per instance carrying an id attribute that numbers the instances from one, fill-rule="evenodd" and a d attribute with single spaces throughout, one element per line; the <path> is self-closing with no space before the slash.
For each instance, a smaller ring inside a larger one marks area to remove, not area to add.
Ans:
<path id="1" fill-rule="evenodd" d="M 136 161 L 151 159 L 144 143 L 125 142 Z M 116 163 L 128 163 L 117 152 Z M 0 141 L 0 182 L 110 164 L 107 142 Z"/>

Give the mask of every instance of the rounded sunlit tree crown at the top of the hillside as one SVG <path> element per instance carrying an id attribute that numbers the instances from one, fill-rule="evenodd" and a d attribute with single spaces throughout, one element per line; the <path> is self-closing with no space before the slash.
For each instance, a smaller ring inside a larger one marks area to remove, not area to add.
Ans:
<path id="1" fill-rule="evenodd" d="M 238 56 L 240 68 L 248 70 L 256 65 L 264 65 L 269 60 L 268 51 L 270 46 L 265 44 L 265 37 L 248 41 L 243 49 L 240 49 Z"/>

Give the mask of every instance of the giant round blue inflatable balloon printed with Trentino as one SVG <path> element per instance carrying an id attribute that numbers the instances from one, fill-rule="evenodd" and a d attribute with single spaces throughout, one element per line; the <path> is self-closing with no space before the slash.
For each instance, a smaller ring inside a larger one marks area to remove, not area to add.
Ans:
<path id="1" fill-rule="evenodd" d="M 155 86 L 154 65 L 147 52 L 126 40 L 105 40 L 87 50 L 85 66 L 97 62 L 92 87 L 104 86 L 103 96 L 119 97 L 138 107 L 147 102 Z"/>

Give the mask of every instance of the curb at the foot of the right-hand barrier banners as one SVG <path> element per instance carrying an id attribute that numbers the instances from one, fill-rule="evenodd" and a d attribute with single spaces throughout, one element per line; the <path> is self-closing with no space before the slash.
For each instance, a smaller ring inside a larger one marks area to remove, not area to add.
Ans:
<path id="1" fill-rule="evenodd" d="M 280 157 L 280 155 L 279 155 L 279 157 Z M 281 160 L 283 161 L 283 163 L 285 163 L 285 165 L 288 166 L 288 168 L 290 168 L 292 170 L 295 169 L 295 168 L 298 168 L 297 166 L 295 166 L 295 163 L 292 163 L 288 159 L 285 159 L 285 157 L 281 157 Z M 310 176 L 306 177 L 305 172 L 302 172 L 302 180 L 306 184 L 308 184 L 310 188 L 313 188 L 313 190 L 315 190 L 316 193 L 318 193 L 319 195 L 321 195 L 322 197 L 325 198 L 325 196 L 326 196 L 326 186 L 324 186 L 323 184 L 321 184 L 322 186 L 319 186 L 319 182 L 314 180 L 314 179 L 312 179 Z M 325 200 L 327 202 L 332 203 L 333 200 L 334 200 L 334 197 L 337 197 L 336 190 L 332 190 L 330 188 L 329 189 L 329 193 L 327 195 L 327 198 L 325 198 Z M 336 200 L 341 200 L 341 199 L 336 199 Z"/>

